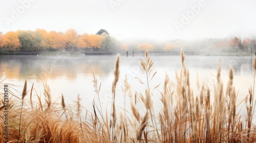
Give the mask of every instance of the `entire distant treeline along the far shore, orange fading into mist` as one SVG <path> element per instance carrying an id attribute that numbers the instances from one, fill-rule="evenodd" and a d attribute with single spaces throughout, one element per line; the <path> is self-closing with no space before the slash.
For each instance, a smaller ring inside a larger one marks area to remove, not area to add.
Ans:
<path id="1" fill-rule="evenodd" d="M 80 53 L 80 54 L 116 54 L 141 53 L 145 50 L 153 53 L 179 53 L 183 49 L 187 53 L 212 52 L 256 52 L 256 40 L 240 37 L 225 39 L 204 39 L 194 42 L 185 40 L 129 41 L 120 42 L 108 31 L 101 29 L 96 34 L 77 34 L 74 29 L 65 33 L 37 29 L 35 31 L 10 31 L 0 33 L 0 55 L 3 54 L 40 54 L 40 53 Z"/>

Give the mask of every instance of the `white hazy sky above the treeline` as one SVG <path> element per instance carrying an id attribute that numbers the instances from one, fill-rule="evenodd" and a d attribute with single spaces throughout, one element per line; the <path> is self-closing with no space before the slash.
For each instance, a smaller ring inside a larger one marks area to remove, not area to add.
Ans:
<path id="1" fill-rule="evenodd" d="M 30 2 L 31 1 L 31 2 Z M 117 39 L 201 39 L 255 36 L 255 0 L 0 0 L 0 31 L 45 29 L 78 34 L 107 30 Z M 27 2 L 23 9 L 22 2 Z M 29 2 L 29 4 L 28 4 Z M 117 6 L 110 2 L 118 3 Z M 199 12 L 191 6 L 204 3 Z M 18 9 L 18 10 L 17 10 Z M 23 11 L 24 10 L 24 11 Z M 15 15 L 15 12 L 20 14 Z M 182 14 L 190 13 L 182 24 Z M 193 13 L 195 15 L 193 15 Z"/>

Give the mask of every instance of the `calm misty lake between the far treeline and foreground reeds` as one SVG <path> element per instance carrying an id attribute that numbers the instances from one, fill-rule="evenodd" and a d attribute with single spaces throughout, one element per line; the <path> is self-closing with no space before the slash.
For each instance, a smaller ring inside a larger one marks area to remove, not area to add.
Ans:
<path id="1" fill-rule="evenodd" d="M 125 75 L 127 75 L 127 80 L 132 87 L 133 95 L 135 91 L 142 94 L 145 92 L 145 86 L 136 79 L 137 77 L 142 81 L 146 80 L 145 74 L 141 72 L 140 58 L 143 59 L 144 55 L 120 56 L 120 78 L 116 89 L 116 103 L 117 106 L 120 106 L 120 110 L 124 104 L 122 87 L 124 86 Z M 161 105 L 160 91 L 163 89 L 165 73 L 168 74 L 170 80 L 176 83 L 175 71 L 179 73 L 181 69 L 181 58 L 178 55 L 152 55 L 151 58 L 154 61 L 152 69 L 157 71 L 157 74 L 150 85 L 154 88 L 160 84 L 153 91 L 154 108 L 159 108 Z M 211 95 L 213 95 L 212 87 L 216 83 L 220 59 L 224 86 L 227 85 L 229 67 L 232 66 L 234 69 L 233 83 L 236 91 L 239 91 L 237 100 L 237 104 L 239 104 L 248 95 L 248 88 L 253 85 L 252 61 L 254 57 L 187 55 L 185 56 L 185 65 L 190 72 L 190 84 L 196 95 L 198 93 L 196 86 L 198 73 L 200 86 L 205 82 L 210 87 Z M 98 85 L 101 82 L 99 94 L 101 106 L 110 110 L 115 60 L 116 56 L 114 55 L 83 57 L 0 56 L 0 80 L 2 81 L 7 77 L 1 86 L 9 84 L 10 90 L 20 97 L 25 79 L 27 79 L 28 90 L 31 89 L 34 82 L 33 97 L 37 93 L 44 99 L 43 83 L 47 82 L 51 89 L 53 101 L 61 103 L 59 97 L 62 93 L 66 104 L 74 105 L 77 95 L 80 94 L 82 106 L 92 111 L 93 99 L 96 96 L 93 87 L 94 73 Z M 224 87 L 224 89 L 226 88 Z M 26 101 L 29 101 L 29 96 L 26 97 Z M 242 107 L 243 104 L 240 106 Z"/>

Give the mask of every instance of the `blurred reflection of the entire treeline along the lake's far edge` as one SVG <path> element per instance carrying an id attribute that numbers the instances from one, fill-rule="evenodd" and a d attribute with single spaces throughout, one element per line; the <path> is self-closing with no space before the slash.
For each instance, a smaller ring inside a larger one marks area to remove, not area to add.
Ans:
<path id="1" fill-rule="evenodd" d="M 121 65 L 138 65 L 142 56 L 122 56 Z M 179 56 L 152 56 L 155 69 L 172 67 L 180 69 Z M 217 69 L 221 59 L 222 69 L 232 66 L 235 75 L 252 73 L 253 57 L 227 56 L 186 56 L 188 68 Z M 77 75 L 108 75 L 114 69 L 115 56 L 86 56 L 86 57 L 36 57 L 36 56 L 0 56 L 0 76 L 17 79 L 36 79 L 39 81 L 66 77 L 76 79 Z"/>

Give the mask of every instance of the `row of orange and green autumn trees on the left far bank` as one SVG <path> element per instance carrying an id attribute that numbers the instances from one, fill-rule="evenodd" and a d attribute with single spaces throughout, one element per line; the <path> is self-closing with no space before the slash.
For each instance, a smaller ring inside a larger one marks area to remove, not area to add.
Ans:
<path id="1" fill-rule="evenodd" d="M 105 37 L 97 34 L 77 34 L 74 29 L 65 33 L 37 29 L 0 33 L 0 47 L 9 51 L 100 49 Z"/>

